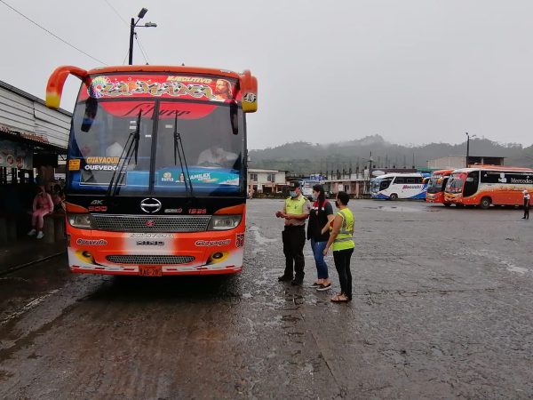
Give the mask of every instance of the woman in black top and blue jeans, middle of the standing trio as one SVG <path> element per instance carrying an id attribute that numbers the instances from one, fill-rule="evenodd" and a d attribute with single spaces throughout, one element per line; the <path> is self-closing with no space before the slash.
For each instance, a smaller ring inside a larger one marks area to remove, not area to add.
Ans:
<path id="1" fill-rule="evenodd" d="M 313 201 L 307 224 L 307 240 L 311 241 L 314 263 L 316 264 L 316 281 L 313 287 L 318 292 L 323 292 L 331 289 L 328 264 L 324 260 L 323 251 L 330 238 L 330 222 L 335 219 L 335 215 L 333 214 L 333 207 L 326 200 L 322 185 L 314 185 Z"/>

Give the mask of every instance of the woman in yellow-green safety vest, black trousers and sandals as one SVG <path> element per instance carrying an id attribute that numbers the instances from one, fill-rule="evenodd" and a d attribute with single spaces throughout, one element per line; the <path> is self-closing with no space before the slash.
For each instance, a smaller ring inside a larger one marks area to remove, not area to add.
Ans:
<path id="1" fill-rule="evenodd" d="M 352 300 L 352 272 L 350 271 L 350 259 L 354 252 L 354 214 L 347 207 L 350 196 L 346 192 L 338 192 L 335 205 L 338 208 L 333 220 L 333 228 L 324 255 L 330 247 L 333 250 L 333 260 L 338 272 L 340 293 L 331 298 L 336 303 L 344 303 Z"/>

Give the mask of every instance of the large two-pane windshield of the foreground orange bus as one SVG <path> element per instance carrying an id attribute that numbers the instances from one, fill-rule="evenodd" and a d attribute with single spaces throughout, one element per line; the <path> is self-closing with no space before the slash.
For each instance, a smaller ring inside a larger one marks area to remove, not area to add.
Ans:
<path id="1" fill-rule="evenodd" d="M 179 196 L 189 181 L 195 196 L 244 192 L 244 118 L 235 101 L 211 92 L 191 101 L 84 90 L 92 88 L 82 86 L 73 116 L 70 193 L 105 194 L 111 180 L 115 196 Z"/>

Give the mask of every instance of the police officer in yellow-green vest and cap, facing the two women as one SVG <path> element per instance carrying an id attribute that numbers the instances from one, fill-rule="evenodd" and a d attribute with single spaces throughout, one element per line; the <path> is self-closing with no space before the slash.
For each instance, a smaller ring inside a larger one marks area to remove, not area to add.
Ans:
<path id="1" fill-rule="evenodd" d="M 311 211 L 311 203 L 302 195 L 298 182 L 292 182 L 289 190 L 290 196 L 285 199 L 283 210 L 275 213 L 276 217 L 285 219 L 282 231 L 285 272 L 278 277 L 278 281 L 301 285 L 304 281 L 306 219 Z"/>

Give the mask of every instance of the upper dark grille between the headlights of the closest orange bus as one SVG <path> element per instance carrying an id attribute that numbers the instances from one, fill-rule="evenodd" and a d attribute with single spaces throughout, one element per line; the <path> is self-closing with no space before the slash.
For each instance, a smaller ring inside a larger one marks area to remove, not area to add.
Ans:
<path id="1" fill-rule="evenodd" d="M 91 214 L 93 229 L 112 232 L 201 232 L 207 230 L 211 215 L 111 215 Z"/>

